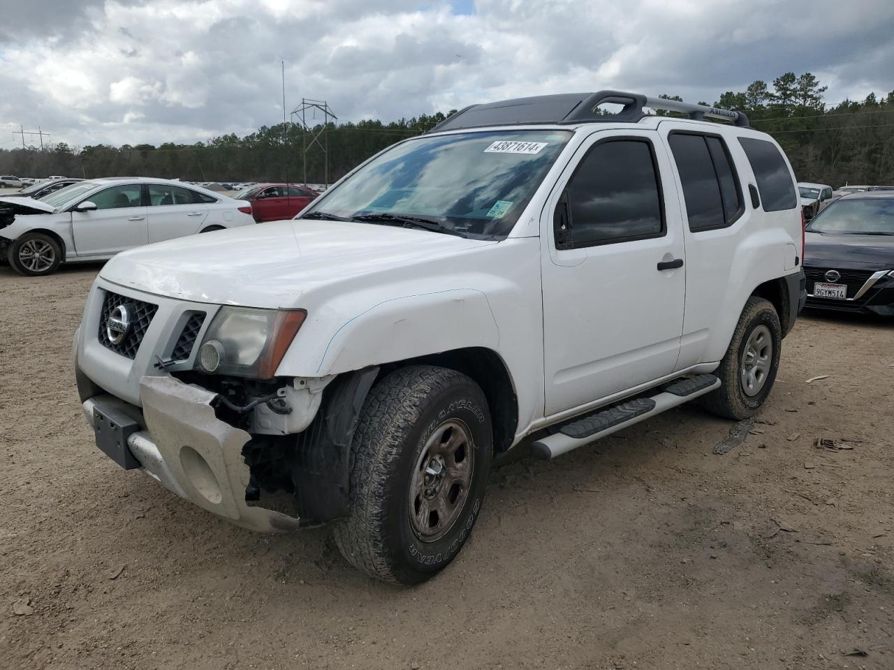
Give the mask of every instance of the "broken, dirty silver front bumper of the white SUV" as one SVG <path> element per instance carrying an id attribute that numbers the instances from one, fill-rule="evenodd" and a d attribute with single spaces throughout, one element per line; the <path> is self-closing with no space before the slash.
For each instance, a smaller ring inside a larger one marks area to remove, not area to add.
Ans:
<path id="1" fill-rule="evenodd" d="M 173 377 L 145 376 L 139 395 L 146 431 L 136 430 L 134 421 L 128 429 L 127 415 L 133 408 L 114 396 L 100 395 L 83 403 L 97 445 L 119 465 L 127 467 L 131 456 L 139 464 L 134 466 L 165 489 L 244 528 L 259 532 L 299 528 L 294 516 L 246 502 L 250 472 L 242 449 L 251 436 L 215 416 L 211 406 L 215 393 Z M 122 420 L 116 418 L 122 415 Z"/>

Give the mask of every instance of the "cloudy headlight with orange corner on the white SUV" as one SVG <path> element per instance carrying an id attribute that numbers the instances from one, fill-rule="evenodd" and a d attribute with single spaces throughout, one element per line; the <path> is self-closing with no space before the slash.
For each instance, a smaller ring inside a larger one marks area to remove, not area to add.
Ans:
<path id="1" fill-rule="evenodd" d="M 308 315 L 303 309 L 221 307 L 198 349 L 207 373 L 268 379 Z"/>

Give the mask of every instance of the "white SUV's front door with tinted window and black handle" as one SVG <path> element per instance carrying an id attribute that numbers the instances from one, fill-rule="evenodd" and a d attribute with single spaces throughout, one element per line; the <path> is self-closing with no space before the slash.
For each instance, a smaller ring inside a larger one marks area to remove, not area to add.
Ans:
<path id="1" fill-rule="evenodd" d="M 673 372 L 686 267 L 671 164 L 649 130 L 597 131 L 544 207 L 545 414 Z"/>

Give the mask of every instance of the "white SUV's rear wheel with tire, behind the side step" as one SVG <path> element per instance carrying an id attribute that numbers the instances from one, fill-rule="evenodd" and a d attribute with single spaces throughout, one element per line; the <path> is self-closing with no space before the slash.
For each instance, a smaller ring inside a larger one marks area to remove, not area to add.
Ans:
<path id="1" fill-rule="evenodd" d="M 749 297 L 730 348 L 714 373 L 720 377 L 721 387 L 705 395 L 703 405 L 729 419 L 754 415 L 776 381 L 781 345 L 782 328 L 776 309 L 763 297 Z"/>

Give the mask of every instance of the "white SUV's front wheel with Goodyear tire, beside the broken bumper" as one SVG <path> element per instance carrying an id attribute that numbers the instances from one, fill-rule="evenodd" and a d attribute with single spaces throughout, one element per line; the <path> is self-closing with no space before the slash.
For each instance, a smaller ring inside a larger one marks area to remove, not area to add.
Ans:
<path id="1" fill-rule="evenodd" d="M 484 394 L 434 365 L 378 381 L 352 445 L 344 557 L 386 582 L 424 582 L 456 557 L 481 511 L 493 453 Z"/>

